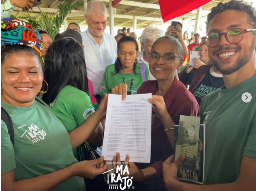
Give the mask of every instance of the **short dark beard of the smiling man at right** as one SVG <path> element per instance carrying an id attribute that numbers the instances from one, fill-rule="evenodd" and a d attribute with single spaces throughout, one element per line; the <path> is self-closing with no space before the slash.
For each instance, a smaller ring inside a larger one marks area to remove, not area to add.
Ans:
<path id="1" fill-rule="evenodd" d="M 255 39 L 253 38 L 253 43 L 249 49 L 249 54 L 244 54 L 243 56 L 239 57 L 239 59 L 236 62 L 236 65 L 233 68 L 228 68 L 227 70 L 224 70 L 221 68 L 221 66 L 219 65 L 219 63 L 217 63 L 213 57 L 209 57 L 209 59 L 211 60 L 211 63 L 213 66 L 215 66 L 218 71 L 221 72 L 221 74 L 224 75 L 228 75 L 228 74 L 232 74 L 236 71 L 238 71 L 241 67 L 243 67 L 244 65 L 246 65 L 251 59 L 252 56 L 255 53 Z"/>

